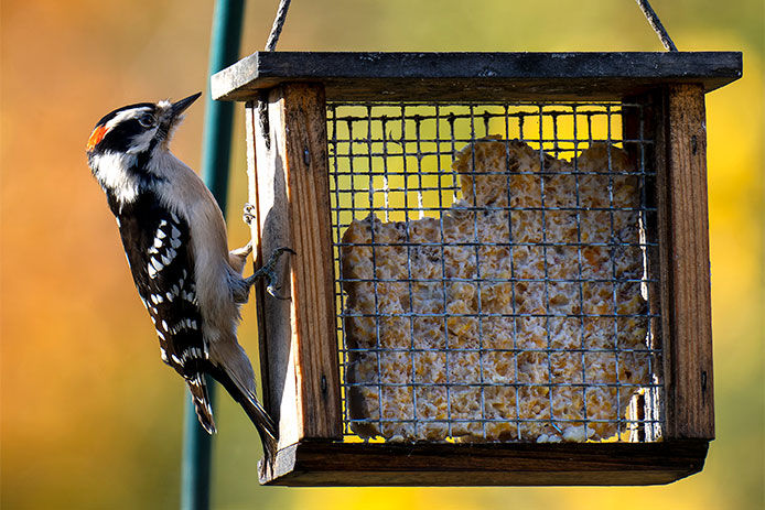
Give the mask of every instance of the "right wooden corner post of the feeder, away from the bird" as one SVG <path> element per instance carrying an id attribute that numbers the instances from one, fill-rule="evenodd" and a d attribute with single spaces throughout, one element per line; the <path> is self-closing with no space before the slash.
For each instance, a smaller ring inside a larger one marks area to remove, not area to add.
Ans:
<path id="1" fill-rule="evenodd" d="M 666 438 L 713 440 L 707 123 L 701 85 L 664 96 L 657 133 Z"/>

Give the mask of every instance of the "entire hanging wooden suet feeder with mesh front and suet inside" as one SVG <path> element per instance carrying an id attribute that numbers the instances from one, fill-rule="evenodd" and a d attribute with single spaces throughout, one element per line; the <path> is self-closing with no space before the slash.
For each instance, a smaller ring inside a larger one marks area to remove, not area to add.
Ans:
<path id="1" fill-rule="evenodd" d="M 258 52 L 266 405 L 292 486 L 666 484 L 714 438 L 704 95 L 731 52 Z"/>

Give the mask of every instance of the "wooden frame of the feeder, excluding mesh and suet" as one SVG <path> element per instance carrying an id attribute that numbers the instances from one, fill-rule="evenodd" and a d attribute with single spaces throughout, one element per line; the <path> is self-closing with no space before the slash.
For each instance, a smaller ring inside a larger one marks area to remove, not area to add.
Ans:
<path id="1" fill-rule="evenodd" d="M 257 256 L 298 252 L 284 274 L 290 301 L 256 291 L 263 400 L 280 433 L 261 484 L 650 485 L 700 471 L 714 438 L 704 94 L 741 75 L 734 52 L 257 52 L 213 76 L 214 98 L 246 102 Z M 658 110 L 646 128 L 656 148 L 660 442 L 343 441 L 327 100 L 629 100 Z"/>

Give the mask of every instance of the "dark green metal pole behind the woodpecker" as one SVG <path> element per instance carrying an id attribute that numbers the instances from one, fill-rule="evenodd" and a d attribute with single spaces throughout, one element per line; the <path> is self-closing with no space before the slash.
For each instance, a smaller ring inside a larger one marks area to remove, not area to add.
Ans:
<path id="1" fill-rule="evenodd" d="M 239 56 L 244 0 L 217 0 L 213 11 L 209 43 L 209 76 L 233 64 Z M 207 87 L 209 89 L 209 87 Z M 226 211 L 228 195 L 228 159 L 231 145 L 234 104 L 206 97 L 202 141 L 202 178 Z M 211 403 L 215 402 L 215 383 L 207 378 Z M 196 420 L 191 395 L 186 394 L 181 469 L 181 509 L 209 508 L 212 437 Z"/>

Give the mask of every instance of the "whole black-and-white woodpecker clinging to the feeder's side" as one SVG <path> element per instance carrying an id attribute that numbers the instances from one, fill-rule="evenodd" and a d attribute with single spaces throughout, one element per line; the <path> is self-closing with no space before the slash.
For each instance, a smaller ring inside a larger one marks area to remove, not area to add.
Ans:
<path id="1" fill-rule="evenodd" d="M 204 375 L 245 409 L 267 459 L 277 431 L 256 398 L 252 368 L 237 343 L 239 306 L 260 271 L 243 278 L 249 245 L 231 252 L 223 214 L 200 177 L 169 150 L 181 113 L 198 97 L 119 108 L 96 124 L 88 164 L 117 217 L 138 293 L 162 360 L 188 384 L 200 423 L 215 432 Z M 263 274 L 276 263 L 278 251 Z"/>

